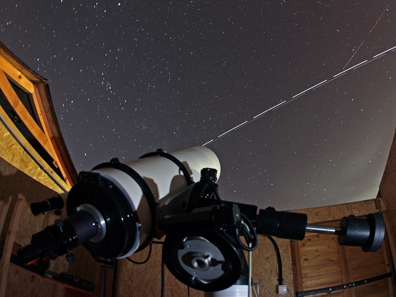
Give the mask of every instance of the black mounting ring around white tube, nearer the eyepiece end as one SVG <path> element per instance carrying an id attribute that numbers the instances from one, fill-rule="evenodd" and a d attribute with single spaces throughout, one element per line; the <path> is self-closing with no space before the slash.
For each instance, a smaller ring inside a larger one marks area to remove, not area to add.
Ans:
<path id="1" fill-rule="evenodd" d="M 150 208 L 150 213 L 151 213 L 150 236 L 148 237 L 146 242 L 143 243 L 143 245 L 138 248 L 137 251 L 144 249 L 145 247 L 147 247 L 149 245 L 151 239 L 154 237 L 154 234 L 155 234 L 154 227 L 155 227 L 155 222 L 156 222 L 156 208 L 158 205 L 158 203 L 155 202 L 154 196 L 152 195 L 152 192 L 151 192 L 150 188 L 148 187 L 148 184 L 143 179 L 143 177 L 141 177 L 140 174 L 137 173 L 134 169 L 132 169 L 131 167 L 129 167 L 126 164 L 120 163 L 118 158 L 111 159 L 109 163 L 99 164 L 98 166 L 94 167 L 92 170 L 97 170 L 100 168 L 114 168 L 114 169 L 120 170 L 120 171 L 128 174 L 138 184 L 138 186 L 142 189 L 142 192 L 148 201 L 148 206 Z"/>

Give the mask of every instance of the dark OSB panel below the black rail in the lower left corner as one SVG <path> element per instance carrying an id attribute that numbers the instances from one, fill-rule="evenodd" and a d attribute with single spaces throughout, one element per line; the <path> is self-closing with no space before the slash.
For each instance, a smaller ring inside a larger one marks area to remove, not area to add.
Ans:
<path id="1" fill-rule="evenodd" d="M 5 296 L 7 297 L 92 297 L 90 293 L 75 291 L 27 274 L 11 266 Z"/>

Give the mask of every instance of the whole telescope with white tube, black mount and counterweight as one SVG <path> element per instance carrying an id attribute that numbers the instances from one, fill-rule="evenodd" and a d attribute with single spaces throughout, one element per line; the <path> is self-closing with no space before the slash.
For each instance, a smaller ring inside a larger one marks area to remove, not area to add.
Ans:
<path id="1" fill-rule="evenodd" d="M 244 251 L 257 247 L 257 234 L 302 240 L 306 232 L 325 233 L 338 236 L 340 245 L 381 247 L 380 214 L 345 217 L 339 227 L 308 224 L 306 214 L 222 200 L 219 176 L 220 162 L 206 147 L 158 149 L 128 163 L 111 159 L 79 173 L 63 196 L 67 218 L 34 234 L 18 256 L 23 263 L 61 255 L 73 261 L 71 250 L 83 245 L 95 260 L 115 261 L 165 237 L 168 270 L 191 288 L 221 296 L 247 287 Z M 44 201 L 35 213 L 60 208 L 59 199 L 50 207 Z"/>

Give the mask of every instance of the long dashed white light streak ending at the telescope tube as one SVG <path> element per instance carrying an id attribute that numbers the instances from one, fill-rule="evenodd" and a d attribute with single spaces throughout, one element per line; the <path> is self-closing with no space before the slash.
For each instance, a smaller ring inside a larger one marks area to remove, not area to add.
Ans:
<path id="1" fill-rule="evenodd" d="M 377 21 L 377 22 L 378 22 L 378 21 Z M 371 31 L 370 31 L 370 32 L 371 32 Z M 272 106 L 271 108 L 268 108 L 268 109 L 266 109 L 265 111 L 263 111 L 263 112 L 261 112 L 261 113 L 255 115 L 255 116 L 253 116 L 253 118 L 251 118 L 250 120 L 245 120 L 243 123 L 241 123 L 241 124 L 235 126 L 234 128 L 228 130 L 227 132 L 224 132 L 224 133 L 220 134 L 216 139 L 212 139 L 212 140 L 210 140 L 210 141 L 204 143 L 204 144 L 202 145 L 202 147 L 207 146 L 207 145 L 209 145 L 209 144 L 212 144 L 212 143 L 214 143 L 215 141 L 221 139 L 222 137 L 228 135 L 230 132 L 235 131 L 235 130 L 238 130 L 239 128 L 242 128 L 243 126 L 246 126 L 247 124 L 251 123 L 252 121 L 254 121 L 254 120 L 260 118 L 261 116 L 267 114 L 269 111 L 273 111 L 273 110 L 278 109 L 279 107 L 281 107 L 281 106 L 283 106 L 283 105 L 286 105 L 287 103 L 292 102 L 293 100 L 295 100 L 295 99 L 301 97 L 302 95 L 306 94 L 306 92 L 309 92 L 309 91 L 312 92 L 313 90 L 315 90 L 315 89 L 317 89 L 317 88 L 319 88 L 319 87 L 322 87 L 322 86 L 326 85 L 327 83 L 330 83 L 331 81 L 333 81 L 333 80 L 335 80 L 335 79 L 340 78 L 341 76 L 343 76 L 344 74 L 346 74 L 347 71 L 349 71 L 349 70 L 355 70 L 355 69 L 357 69 L 357 68 L 359 68 L 359 67 L 361 67 L 361 66 L 363 66 L 363 65 L 365 65 L 365 64 L 368 64 L 368 63 L 370 63 L 370 62 L 372 62 L 372 61 L 378 59 L 379 57 L 384 56 L 385 54 L 387 54 L 387 53 L 389 53 L 389 52 L 391 52 L 391 51 L 394 51 L 394 50 L 396 50 L 396 46 L 393 47 L 393 48 L 387 49 L 387 50 L 385 50 L 385 51 L 383 51 L 383 52 L 381 52 L 381 53 L 379 53 L 379 54 L 374 55 L 370 60 L 364 60 L 364 61 L 362 61 L 362 62 L 360 62 L 360 63 L 358 63 L 358 64 L 356 64 L 356 65 L 354 65 L 354 66 L 352 66 L 352 67 L 350 67 L 350 68 L 348 68 L 348 69 L 346 69 L 346 70 L 344 70 L 344 71 L 341 71 L 340 73 L 334 75 L 333 78 L 330 79 L 330 80 L 325 79 L 324 81 L 322 81 L 322 82 L 320 82 L 320 83 L 318 83 L 318 84 L 316 84 L 316 85 L 314 85 L 314 86 L 312 86 L 312 87 L 306 89 L 305 91 L 302 91 L 302 92 L 298 93 L 297 95 L 294 95 L 294 96 L 293 96 L 291 99 L 289 99 L 289 100 L 283 100 L 283 101 L 281 101 L 280 103 L 278 103 L 278 104 Z"/>

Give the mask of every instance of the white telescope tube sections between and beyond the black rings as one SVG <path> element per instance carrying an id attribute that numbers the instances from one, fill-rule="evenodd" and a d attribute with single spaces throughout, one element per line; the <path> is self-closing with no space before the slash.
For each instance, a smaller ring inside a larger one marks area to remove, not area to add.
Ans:
<path id="1" fill-rule="evenodd" d="M 196 146 L 170 153 L 186 167 L 191 180 L 198 182 L 202 168 L 214 168 L 220 176 L 220 162 L 209 148 Z M 163 156 L 149 156 L 126 163 L 135 170 L 147 183 L 155 202 L 163 203 L 176 193 L 183 191 L 188 185 L 180 168 L 171 160 Z M 125 258 L 134 253 L 144 243 L 154 226 L 148 200 L 138 183 L 127 173 L 115 168 L 100 168 L 92 172 L 99 173 L 111 181 L 128 199 L 133 211 L 137 212 L 138 227 L 137 240 L 129 252 L 120 256 Z"/>

